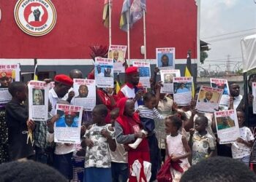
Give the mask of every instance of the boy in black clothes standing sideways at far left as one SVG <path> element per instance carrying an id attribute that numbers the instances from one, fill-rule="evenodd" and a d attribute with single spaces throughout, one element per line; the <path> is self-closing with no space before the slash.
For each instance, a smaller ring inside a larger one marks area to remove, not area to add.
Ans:
<path id="1" fill-rule="evenodd" d="M 12 82 L 9 86 L 12 100 L 6 106 L 10 160 L 26 160 L 34 156 L 31 141 L 27 143 L 28 129 L 34 130 L 29 119 L 29 110 L 23 105 L 26 100 L 26 84 Z"/>

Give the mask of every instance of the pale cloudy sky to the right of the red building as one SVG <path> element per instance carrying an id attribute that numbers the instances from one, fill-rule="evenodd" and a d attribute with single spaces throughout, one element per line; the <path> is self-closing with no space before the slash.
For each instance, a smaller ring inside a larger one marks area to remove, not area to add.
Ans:
<path id="1" fill-rule="evenodd" d="M 241 38 L 256 33 L 256 0 L 201 0 L 200 39 L 211 48 L 198 71 L 225 71 L 242 68 Z M 225 35 L 223 35 L 225 34 Z"/>

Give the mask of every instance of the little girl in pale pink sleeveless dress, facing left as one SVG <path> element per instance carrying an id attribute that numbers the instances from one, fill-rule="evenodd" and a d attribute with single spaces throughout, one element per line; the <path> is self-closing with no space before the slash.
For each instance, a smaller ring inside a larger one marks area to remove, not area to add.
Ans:
<path id="1" fill-rule="evenodd" d="M 187 158 L 191 156 L 191 150 L 189 148 L 189 144 L 187 143 L 186 137 L 178 132 L 181 126 L 182 121 L 178 116 L 169 116 L 167 119 L 165 119 L 165 131 L 167 134 L 170 134 L 166 137 L 165 159 L 171 157 L 173 162 L 180 160 L 180 166 L 185 172 L 190 167 Z M 170 170 L 173 181 L 179 181 L 183 173 L 180 173 L 173 168 Z"/>

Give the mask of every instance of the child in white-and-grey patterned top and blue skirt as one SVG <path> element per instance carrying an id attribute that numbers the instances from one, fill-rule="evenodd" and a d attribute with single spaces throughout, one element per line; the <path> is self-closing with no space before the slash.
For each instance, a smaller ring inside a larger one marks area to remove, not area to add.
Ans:
<path id="1" fill-rule="evenodd" d="M 109 124 L 105 124 L 108 108 L 99 104 L 92 111 L 92 124 L 84 135 L 86 143 L 85 181 L 112 181 L 110 152 L 116 150 L 113 133 L 110 135 Z"/>

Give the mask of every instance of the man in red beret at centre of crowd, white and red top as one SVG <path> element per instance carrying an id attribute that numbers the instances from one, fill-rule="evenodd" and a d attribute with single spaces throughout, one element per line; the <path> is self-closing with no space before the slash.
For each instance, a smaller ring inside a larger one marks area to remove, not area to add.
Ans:
<path id="1" fill-rule="evenodd" d="M 125 80 L 126 83 L 118 92 L 118 98 L 133 98 L 136 109 L 139 105 L 143 104 L 143 100 L 141 100 L 143 96 L 143 88 L 138 87 L 138 83 L 140 81 L 138 67 L 130 66 L 127 68 L 125 71 Z"/>

